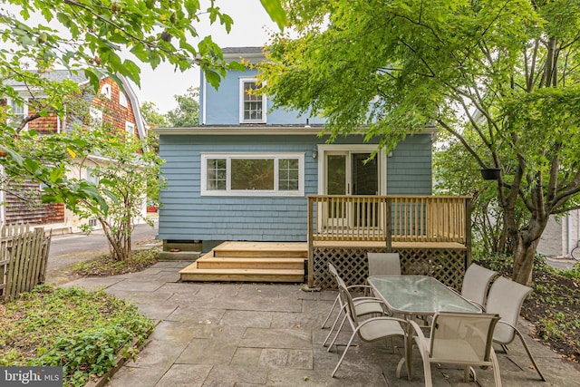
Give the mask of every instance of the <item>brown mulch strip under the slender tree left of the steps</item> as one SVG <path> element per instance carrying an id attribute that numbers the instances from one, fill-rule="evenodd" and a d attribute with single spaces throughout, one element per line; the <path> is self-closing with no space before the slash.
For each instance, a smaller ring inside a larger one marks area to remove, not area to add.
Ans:
<path id="1" fill-rule="evenodd" d="M 141 271 L 157 263 L 159 250 L 136 250 L 126 261 L 117 261 L 111 255 L 99 256 L 89 261 L 73 264 L 73 274 L 77 276 L 115 276 Z"/>

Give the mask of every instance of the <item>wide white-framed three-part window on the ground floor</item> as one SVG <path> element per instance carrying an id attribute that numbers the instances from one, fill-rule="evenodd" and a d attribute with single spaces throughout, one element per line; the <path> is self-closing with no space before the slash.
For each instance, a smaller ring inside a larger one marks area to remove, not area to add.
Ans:
<path id="1" fill-rule="evenodd" d="M 304 154 L 202 154 L 202 196 L 304 196 Z"/>

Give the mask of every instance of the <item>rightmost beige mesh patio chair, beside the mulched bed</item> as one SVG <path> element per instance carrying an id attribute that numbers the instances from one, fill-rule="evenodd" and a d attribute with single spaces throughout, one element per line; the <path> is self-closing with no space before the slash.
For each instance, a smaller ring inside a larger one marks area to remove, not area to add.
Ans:
<path id="1" fill-rule="evenodd" d="M 499 324 L 493 334 L 494 343 L 500 344 L 502 349 L 507 353 L 507 344 L 512 343 L 516 339 L 516 336 L 519 337 L 537 374 L 542 381 L 546 382 L 546 378 L 540 369 L 537 368 L 536 360 L 532 356 L 532 353 L 530 353 L 524 336 L 517 329 L 519 312 L 522 304 L 524 304 L 524 300 L 531 291 L 531 287 L 518 284 L 517 282 L 500 276 L 491 285 L 491 289 L 489 289 L 486 312 L 499 314 L 501 316 L 501 320 L 499 320 Z"/>

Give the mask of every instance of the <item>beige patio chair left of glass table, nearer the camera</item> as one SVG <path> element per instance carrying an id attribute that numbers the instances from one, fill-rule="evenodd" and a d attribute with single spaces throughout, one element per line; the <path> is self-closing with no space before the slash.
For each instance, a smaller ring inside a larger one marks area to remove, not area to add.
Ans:
<path id="1" fill-rule="evenodd" d="M 358 336 L 362 342 L 376 342 L 382 339 L 386 339 L 391 336 L 404 336 L 406 332 L 407 322 L 400 318 L 395 317 L 372 317 L 367 320 L 360 321 L 359 317 L 355 313 L 355 306 L 353 296 L 350 294 L 349 290 L 343 285 L 338 287 L 339 296 L 344 304 L 344 309 L 346 312 L 346 317 L 353 328 L 353 334 L 351 339 L 346 344 L 344 348 L 343 355 L 334 367 L 331 377 L 334 377 L 336 371 L 343 363 L 344 356 L 348 352 L 348 349 L 353 343 L 354 337 Z M 405 328 L 405 329 L 403 329 Z"/>

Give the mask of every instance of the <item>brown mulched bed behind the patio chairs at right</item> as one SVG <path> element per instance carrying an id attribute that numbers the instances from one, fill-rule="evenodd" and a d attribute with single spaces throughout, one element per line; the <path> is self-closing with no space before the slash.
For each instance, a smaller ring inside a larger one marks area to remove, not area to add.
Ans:
<path id="1" fill-rule="evenodd" d="M 474 262 L 512 275 L 511 256 L 474 256 Z M 548 266 L 537 256 L 532 275 L 533 290 L 522 306 L 522 316 L 536 327 L 536 339 L 563 358 L 580 361 L 580 263 L 570 270 Z"/>

